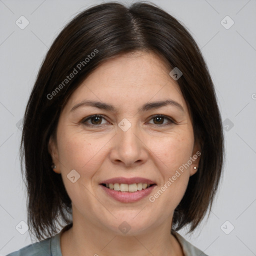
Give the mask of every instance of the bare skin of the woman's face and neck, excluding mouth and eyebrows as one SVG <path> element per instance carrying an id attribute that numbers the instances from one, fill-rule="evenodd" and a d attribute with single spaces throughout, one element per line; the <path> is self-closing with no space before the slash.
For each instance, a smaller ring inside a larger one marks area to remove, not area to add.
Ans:
<path id="1" fill-rule="evenodd" d="M 198 166 L 199 156 L 154 202 L 149 196 L 119 202 L 99 185 L 117 176 L 145 177 L 157 184 L 153 195 L 200 150 L 194 143 L 186 102 L 170 70 L 152 52 L 119 55 L 99 65 L 64 106 L 56 141 L 49 140 L 54 171 L 61 174 L 72 201 L 73 226 L 60 239 L 63 256 L 183 255 L 170 234 L 171 221 L 189 177 L 196 172 L 193 167 Z M 70 111 L 84 99 L 112 104 L 116 110 L 80 106 Z M 165 99 L 175 100 L 184 111 L 173 105 L 138 111 L 144 103 Z M 93 114 L 104 117 L 84 122 Z M 153 118 L 155 114 L 175 123 Z M 123 118 L 131 123 L 127 131 L 118 127 Z M 80 174 L 74 183 L 66 176 L 72 169 Z M 126 234 L 118 228 L 123 221 L 131 227 Z"/>

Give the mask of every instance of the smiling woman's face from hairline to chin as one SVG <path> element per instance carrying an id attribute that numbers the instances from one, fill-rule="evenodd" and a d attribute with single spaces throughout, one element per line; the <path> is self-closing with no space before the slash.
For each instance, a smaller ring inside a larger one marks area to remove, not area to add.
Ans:
<path id="1" fill-rule="evenodd" d="M 154 53 L 123 54 L 98 66 L 70 96 L 49 148 L 73 221 L 118 233 L 127 225 L 129 234 L 170 227 L 200 153 L 169 71 Z"/>

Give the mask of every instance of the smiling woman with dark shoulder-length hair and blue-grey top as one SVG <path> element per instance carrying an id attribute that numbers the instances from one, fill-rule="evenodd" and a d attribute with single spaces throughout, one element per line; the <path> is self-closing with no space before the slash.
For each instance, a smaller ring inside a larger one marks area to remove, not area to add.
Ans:
<path id="1" fill-rule="evenodd" d="M 176 232 L 211 208 L 223 162 L 214 87 L 191 35 L 148 3 L 79 13 L 39 70 L 23 158 L 40 241 L 8 255 L 206 255 Z"/>

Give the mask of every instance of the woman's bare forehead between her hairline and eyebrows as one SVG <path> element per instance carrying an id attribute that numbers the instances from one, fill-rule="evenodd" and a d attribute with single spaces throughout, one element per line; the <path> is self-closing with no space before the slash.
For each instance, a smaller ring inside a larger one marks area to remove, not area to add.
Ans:
<path id="1" fill-rule="evenodd" d="M 76 88 L 67 107 L 84 99 L 131 107 L 144 101 L 171 98 L 185 108 L 179 86 L 169 75 L 170 67 L 153 52 L 132 52 L 101 63 Z"/>

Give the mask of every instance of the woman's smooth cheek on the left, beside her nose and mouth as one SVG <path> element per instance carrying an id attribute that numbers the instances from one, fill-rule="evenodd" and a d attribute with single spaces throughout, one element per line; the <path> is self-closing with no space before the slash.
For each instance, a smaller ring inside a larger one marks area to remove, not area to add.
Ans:
<path id="1" fill-rule="evenodd" d="M 89 203 L 87 189 L 91 186 L 93 175 L 104 159 L 102 155 L 104 150 L 100 150 L 106 143 L 103 142 L 100 139 L 92 140 L 89 136 L 85 137 L 80 133 L 67 134 L 64 131 L 59 133 L 58 152 L 61 176 L 66 191 L 75 205 L 81 202 Z M 75 172 L 70 172 L 71 170 Z M 71 176 L 75 176 L 75 182 L 69 179 Z"/>

